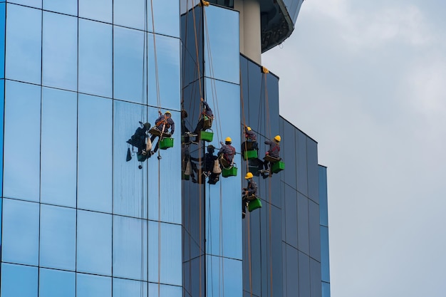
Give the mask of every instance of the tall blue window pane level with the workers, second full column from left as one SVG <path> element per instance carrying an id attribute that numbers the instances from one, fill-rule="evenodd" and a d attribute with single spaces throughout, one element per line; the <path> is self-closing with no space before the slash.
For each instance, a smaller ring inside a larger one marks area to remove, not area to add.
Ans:
<path id="1" fill-rule="evenodd" d="M 76 93 L 43 88 L 41 202 L 76 207 Z"/>

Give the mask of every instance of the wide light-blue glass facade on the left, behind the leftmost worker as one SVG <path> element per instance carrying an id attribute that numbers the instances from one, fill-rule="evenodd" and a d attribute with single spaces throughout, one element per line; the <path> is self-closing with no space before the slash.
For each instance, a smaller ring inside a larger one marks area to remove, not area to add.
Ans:
<path id="1" fill-rule="evenodd" d="M 125 160 L 138 121 L 180 123 L 180 5 L 155 2 L 155 28 L 150 1 L 0 3 L 1 297 L 182 296 L 180 132 Z"/>

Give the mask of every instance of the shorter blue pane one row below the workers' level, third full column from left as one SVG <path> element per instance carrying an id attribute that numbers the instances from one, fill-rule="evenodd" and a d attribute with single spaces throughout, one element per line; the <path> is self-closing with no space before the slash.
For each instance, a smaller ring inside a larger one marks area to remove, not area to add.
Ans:
<path id="1" fill-rule="evenodd" d="M 111 275 L 111 215 L 78 211 L 77 270 Z"/>

